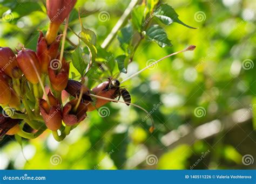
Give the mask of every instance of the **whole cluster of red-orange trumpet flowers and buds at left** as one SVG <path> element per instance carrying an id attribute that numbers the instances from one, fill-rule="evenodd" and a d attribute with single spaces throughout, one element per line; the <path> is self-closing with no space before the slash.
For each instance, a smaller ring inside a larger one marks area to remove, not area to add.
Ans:
<path id="1" fill-rule="evenodd" d="M 81 82 L 69 80 L 69 62 L 63 56 L 63 49 L 59 51 L 65 33 L 58 35 L 58 30 L 75 3 L 76 0 L 46 1 L 51 22 L 46 36 L 39 32 L 36 52 L 23 47 L 16 49 L 15 54 L 9 47 L 0 47 L 0 105 L 3 110 L 13 112 L 9 116 L 0 114 L 0 137 L 17 133 L 35 138 L 48 128 L 60 141 L 86 118 L 87 111 L 96 110 L 117 97 L 117 89 L 110 88 L 110 80 L 92 90 Z M 65 104 L 64 90 L 70 94 Z M 96 95 L 101 98 L 95 99 Z M 36 132 L 24 132 L 24 122 Z"/>

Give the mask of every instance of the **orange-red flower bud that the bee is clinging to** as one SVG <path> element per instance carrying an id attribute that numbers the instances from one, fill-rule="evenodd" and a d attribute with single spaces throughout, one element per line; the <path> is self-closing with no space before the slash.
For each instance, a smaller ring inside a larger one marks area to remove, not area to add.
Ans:
<path id="1" fill-rule="evenodd" d="M 109 81 L 105 81 L 103 83 L 100 83 L 98 86 L 93 88 L 92 91 L 95 93 L 95 95 L 102 96 L 102 97 L 105 97 L 105 98 L 114 99 L 116 97 L 116 89 L 105 90 L 105 88 L 107 86 L 109 86 Z M 88 112 L 102 107 L 107 102 L 110 102 L 110 101 L 97 98 L 95 104 L 90 103 L 90 104 L 87 105 Z"/>

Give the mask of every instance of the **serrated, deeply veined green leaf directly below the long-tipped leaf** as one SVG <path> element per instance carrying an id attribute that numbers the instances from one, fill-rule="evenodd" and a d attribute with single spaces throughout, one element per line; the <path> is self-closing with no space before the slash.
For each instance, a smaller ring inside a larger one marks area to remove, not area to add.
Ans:
<path id="1" fill-rule="evenodd" d="M 171 41 L 167 38 L 165 30 L 159 25 L 152 25 L 146 31 L 146 38 L 149 41 L 156 42 L 160 47 L 171 47 Z"/>

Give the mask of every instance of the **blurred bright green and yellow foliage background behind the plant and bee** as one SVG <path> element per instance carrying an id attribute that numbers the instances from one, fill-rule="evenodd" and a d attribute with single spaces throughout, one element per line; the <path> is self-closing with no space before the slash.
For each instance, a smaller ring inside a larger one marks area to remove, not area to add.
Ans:
<path id="1" fill-rule="evenodd" d="M 48 131 L 34 140 L 24 139 L 22 147 L 13 136 L 6 136 L 0 144 L 1 169 L 256 168 L 256 2 L 165 2 L 183 22 L 198 29 L 177 23 L 165 26 L 173 46 L 161 48 L 143 40 L 128 73 L 122 74 L 125 79 L 167 54 L 197 46 L 194 52 L 163 60 L 125 83 L 132 103 L 150 112 L 156 130 L 149 132 L 151 122 L 144 111 L 109 103 L 104 117 L 88 112 L 60 143 Z M 76 9 L 97 10 L 82 19 L 96 32 L 97 47 L 129 3 L 78 0 Z M 36 49 L 37 30 L 45 31 L 49 25 L 44 4 L 0 0 L 0 45 Z M 105 18 L 99 16 L 102 12 Z M 76 17 L 70 27 L 79 31 Z M 78 43 L 71 31 L 68 38 Z M 109 51 L 114 56 L 123 53 L 116 38 Z"/>

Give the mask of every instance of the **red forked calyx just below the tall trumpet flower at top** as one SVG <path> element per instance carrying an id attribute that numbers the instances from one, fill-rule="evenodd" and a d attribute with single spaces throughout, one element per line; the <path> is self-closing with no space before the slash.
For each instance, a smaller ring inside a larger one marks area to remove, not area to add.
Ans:
<path id="1" fill-rule="evenodd" d="M 43 32 L 40 31 L 40 35 L 37 41 L 36 54 L 40 63 L 42 73 L 48 73 L 48 66 L 50 61 L 57 57 L 61 37 L 62 35 L 59 35 L 53 41 L 53 43 L 48 46 Z"/>

